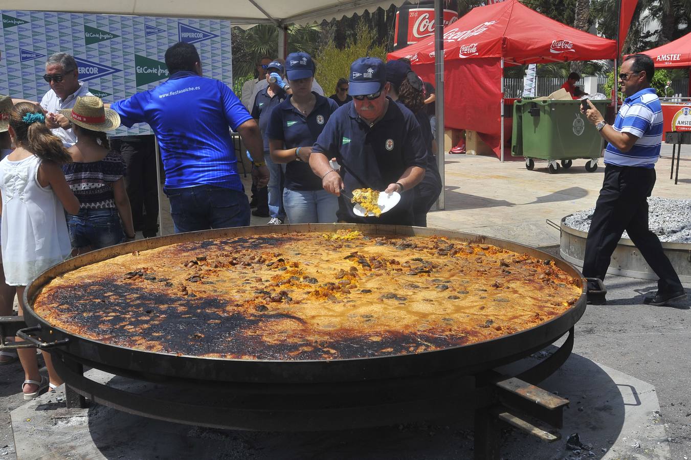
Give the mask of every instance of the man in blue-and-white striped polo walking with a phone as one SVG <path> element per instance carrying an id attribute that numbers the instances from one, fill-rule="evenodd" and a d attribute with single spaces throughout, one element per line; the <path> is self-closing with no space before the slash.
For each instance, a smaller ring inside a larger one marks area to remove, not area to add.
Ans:
<path id="1" fill-rule="evenodd" d="M 646 55 L 627 57 L 621 65 L 619 84 L 627 96 L 609 126 L 595 106 L 585 115 L 608 142 L 605 180 L 595 205 L 585 245 L 583 275 L 588 280 L 588 303 L 605 305 L 604 280 L 609 260 L 624 230 L 660 278 L 650 305 L 666 305 L 686 296 L 679 276 L 663 253 L 659 238 L 648 229 L 647 197 L 655 185 L 655 163 L 660 156 L 662 108 L 650 81 L 655 73 Z M 598 279 L 596 279 L 598 278 Z"/>

